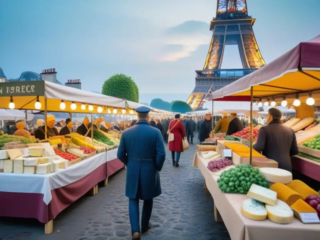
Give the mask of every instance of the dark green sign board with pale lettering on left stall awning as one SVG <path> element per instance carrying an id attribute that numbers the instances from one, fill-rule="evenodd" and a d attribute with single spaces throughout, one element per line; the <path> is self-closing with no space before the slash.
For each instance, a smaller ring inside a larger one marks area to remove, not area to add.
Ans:
<path id="1" fill-rule="evenodd" d="M 0 83 L 0 97 L 44 96 L 44 81 Z"/>

